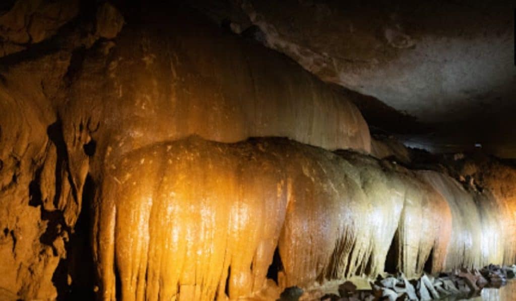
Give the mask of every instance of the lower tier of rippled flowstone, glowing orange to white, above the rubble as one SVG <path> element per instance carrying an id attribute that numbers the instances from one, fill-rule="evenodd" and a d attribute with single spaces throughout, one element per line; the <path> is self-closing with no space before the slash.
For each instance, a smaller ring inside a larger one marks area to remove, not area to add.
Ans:
<path id="1" fill-rule="evenodd" d="M 503 260 L 496 215 L 478 215 L 487 198 L 353 152 L 190 137 L 127 153 L 103 175 L 94 251 L 105 299 L 117 277 L 126 300 L 250 296 L 276 247 L 281 287 L 375 276 L 390 247 L 409 277 Z"/>

